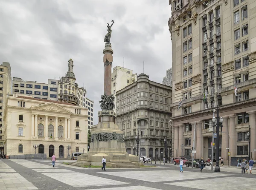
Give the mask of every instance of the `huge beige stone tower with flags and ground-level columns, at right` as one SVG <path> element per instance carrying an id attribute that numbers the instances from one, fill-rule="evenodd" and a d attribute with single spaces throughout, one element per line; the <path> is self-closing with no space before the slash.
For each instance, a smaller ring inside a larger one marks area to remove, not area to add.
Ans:
<path id="1" fill-rule="evenodd" d="M 173 156 L 191 156 L 196 127 L 195 158 L 210 157 L 209 128 L 213 108 L 218 107 L 224 118 L 219 155 L 227 160 L 230 152 L 232 165 L 236 158 L 248 157 L 250 126 L 250 155 L 256 159 L 256 1 L 169 0 L 169 4 Z"/>

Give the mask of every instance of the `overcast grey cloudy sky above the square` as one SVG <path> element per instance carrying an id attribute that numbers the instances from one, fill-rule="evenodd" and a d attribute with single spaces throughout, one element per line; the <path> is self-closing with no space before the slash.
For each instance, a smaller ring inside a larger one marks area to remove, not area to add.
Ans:
<path id="1" fill-rule="evenodd" d="M 106 23 L 116 65 L 162 83 L 172 67 L 168 0 L 0 0 L 0 62 L 12 77 L 47 83 L 67 72 L 70 58 L 79 86 L 86 85 L 94 114 L 103 94 Z M 94 117 L 94 124 L 97 123 Z"/>

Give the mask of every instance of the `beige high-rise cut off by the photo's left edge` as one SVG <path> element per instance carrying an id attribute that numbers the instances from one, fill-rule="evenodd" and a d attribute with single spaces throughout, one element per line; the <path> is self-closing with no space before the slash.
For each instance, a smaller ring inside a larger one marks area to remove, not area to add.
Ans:
<path id="1" fill-rule="evenodd" d="M 6 108 L 6 98 L 11 94 L 12 77 L 9 62 L 0 65 L 0 154 L 4 153 L 4 125 L 3 117 Z"/>

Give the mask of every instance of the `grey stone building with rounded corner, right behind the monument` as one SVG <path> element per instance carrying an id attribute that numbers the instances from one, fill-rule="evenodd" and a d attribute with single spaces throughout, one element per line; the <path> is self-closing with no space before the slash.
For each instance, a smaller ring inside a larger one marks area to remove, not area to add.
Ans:
<path id="1" fill-rule="evenodd" d="M 116 124 L 124 133 L 127 153 L 137 155 L 139 132 L 140 156 L 170 157 L 171 103 L 172 87 L 153 82 L 144 73 L 137 76 L 136 82 L 116 92 Z"/>

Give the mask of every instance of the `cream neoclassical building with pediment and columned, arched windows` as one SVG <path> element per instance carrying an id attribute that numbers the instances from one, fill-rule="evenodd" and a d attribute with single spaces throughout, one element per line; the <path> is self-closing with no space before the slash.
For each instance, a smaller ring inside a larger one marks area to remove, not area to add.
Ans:
<path id="1" fill-rule="evenodd" d="M 72 152 L 87 153 L 88 109 L 66 102 L 14 94 L 7 97 L 4 114 L 4 153 L 53 153 L 66 158 Z"/>

